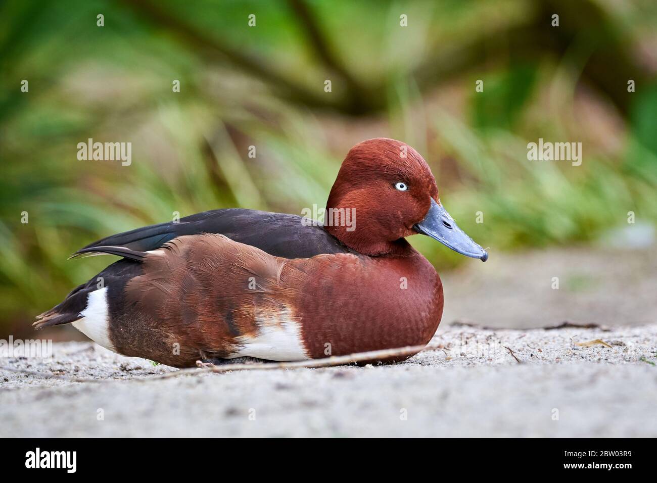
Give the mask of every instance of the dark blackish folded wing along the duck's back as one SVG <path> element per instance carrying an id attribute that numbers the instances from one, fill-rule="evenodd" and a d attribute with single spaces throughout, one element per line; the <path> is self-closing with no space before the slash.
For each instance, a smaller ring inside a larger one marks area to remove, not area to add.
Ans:
<path id="1" fill-rule="evenodd" d="M 126 250 L 148 252 L 177 237 L 201 233 L 218 233 L 282 258 L 351 252 L 321 226 L 302 223 L 300 216 L 230 208 L 125 231 L 93 242 L 73 256 L 108 253 L 131 258 Z"/>

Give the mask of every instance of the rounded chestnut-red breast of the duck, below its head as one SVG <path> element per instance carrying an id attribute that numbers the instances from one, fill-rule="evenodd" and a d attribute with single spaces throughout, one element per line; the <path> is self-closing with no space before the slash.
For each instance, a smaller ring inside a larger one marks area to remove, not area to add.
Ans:
<path id="1" fill-rule="evenodd" d="M 427 344 L 442 317 L 443 291 L 419 253 L 349 254 L 294 260 L 283 282 L 313 358 Z"/>

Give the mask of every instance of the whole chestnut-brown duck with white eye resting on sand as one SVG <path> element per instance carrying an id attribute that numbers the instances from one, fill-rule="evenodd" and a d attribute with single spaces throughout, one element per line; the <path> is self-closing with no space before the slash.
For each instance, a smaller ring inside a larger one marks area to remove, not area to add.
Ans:
<path id="1" fill-rule="evenodd" d="M 93 242 L 71 258 L 120 260 L 34 327 L 72 324 L 118 354 L 181 368 L 426 346 L 442 318 L 443 287 L 407 237 L 488 258 L 442 206 L 424 158 L 401 141 L 355 145 L 326 210 L 328 223 L 210 210 Z"/>

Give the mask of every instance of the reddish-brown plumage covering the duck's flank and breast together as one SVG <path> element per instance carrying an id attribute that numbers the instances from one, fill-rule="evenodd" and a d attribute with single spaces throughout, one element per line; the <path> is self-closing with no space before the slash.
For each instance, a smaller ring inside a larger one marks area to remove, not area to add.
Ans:
<path id="1" fill-rule="evenodd" d="M 327 347 L 339 356 L 426 344 L 442 314 L 440 279 L 410 247 L 404 256 L 284 260 L 223 235 L 185 236 L 149 253 L 125 292 L 140 330 L 162 334 L 166 344 L 145 348 L 141 338 L 114 337 L 120 352 L 179 367 L 229 357 L 244 340 L 290 320 L 309 357 L 325 357 Z M 166 346 L 174 342 L 179 355 Z"/>

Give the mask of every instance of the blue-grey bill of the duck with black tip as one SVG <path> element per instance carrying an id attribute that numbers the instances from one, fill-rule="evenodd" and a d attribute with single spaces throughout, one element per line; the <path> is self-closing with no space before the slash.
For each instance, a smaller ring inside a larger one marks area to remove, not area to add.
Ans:
<path id="1" fill-rule="evenodd" d="M 447 213 L 447 210 L 436 203 L 436 200 L 433 198 L 429 212 L 420 223 L 413 226 L 413 229 L 417 233 L 422 233 L 422 235 L 427 235 L 434 240 L 438 240 L 443 245 L 448 246 L 461 255 L 469 256 L 470 258 L 479 258 L 482 262 L 488 260 L 486 250 L 468 237 L 457 226 L 454 219 Z"/>

